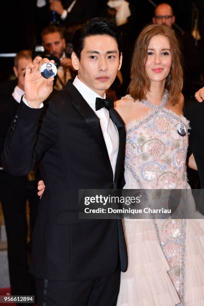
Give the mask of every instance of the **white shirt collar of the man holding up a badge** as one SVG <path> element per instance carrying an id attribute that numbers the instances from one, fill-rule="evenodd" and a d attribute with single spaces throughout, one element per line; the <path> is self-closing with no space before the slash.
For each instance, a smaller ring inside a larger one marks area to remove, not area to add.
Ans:
<path id="1" fill-rule="evenodd" d="M 85 85 L 76 75 L 76 77 L 73 80 L 73 85 L 76 87 L 76 89 L 80 92 L 84 100 L 88 103 L 88 105 L 95 111 L 95 98 L 101 96 L 97 94 L 95 91 L 90 89 L 87 85 Z M 105 93 L 103 96 L 103 99 L 105 99 Z"/>

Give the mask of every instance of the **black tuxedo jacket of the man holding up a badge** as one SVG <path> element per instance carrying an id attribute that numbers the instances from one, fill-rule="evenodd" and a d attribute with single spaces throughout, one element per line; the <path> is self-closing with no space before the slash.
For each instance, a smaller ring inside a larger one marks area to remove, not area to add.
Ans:
<path id="1" fill-rule="evenodd" d="M 113 176 L 99 118 L 71 81 L 49 100 L 36 136 L 40 113 L 21 101 L 2 154 L 12 174 L 28 173 L 39 162 L 46 186 L 33 231 L 31 272 L 46 279 L 92 279 L 110 275 L 118 261 L 125 271 L 121 220 L 78 219 L 78 189 L 120 187 L 121 118 L 113 108 L 109 111 L 119 135 Z"/>

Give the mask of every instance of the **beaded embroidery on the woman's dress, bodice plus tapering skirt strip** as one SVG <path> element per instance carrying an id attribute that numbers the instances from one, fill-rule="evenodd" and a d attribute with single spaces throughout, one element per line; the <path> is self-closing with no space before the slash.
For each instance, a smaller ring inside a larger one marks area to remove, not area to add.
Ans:
<path id="1" fill-rule="evenodd" d="M 150 108 L 149 112 L 139 121 L 133 120 L 126 125 L 124 176 L 127 189 L 188 188 L 185 160 L 189 121 L 165 108 L 167 98 L 165 90 L 159 105 L 140 101 Z M 184 298 L 186 220 L 153 219 L 152 222 L 181 305 Z"/>

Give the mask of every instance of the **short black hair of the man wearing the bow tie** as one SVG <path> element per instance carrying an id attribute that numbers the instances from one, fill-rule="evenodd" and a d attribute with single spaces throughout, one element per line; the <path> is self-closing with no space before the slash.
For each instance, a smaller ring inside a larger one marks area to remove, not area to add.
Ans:
<path id="1" fill-rule="evenodd" d="M 80 53 L 84 46 L 84 39 L 92 35 L 109 35 L 117 42 L 119 55 L 122 49 L 121 34 L 117 27 L 110 21 L 102 17 L 96 17 L 89 20 L 84 26 L 75 31 L 73 36 L 73 51 L 80 59 Z"/>

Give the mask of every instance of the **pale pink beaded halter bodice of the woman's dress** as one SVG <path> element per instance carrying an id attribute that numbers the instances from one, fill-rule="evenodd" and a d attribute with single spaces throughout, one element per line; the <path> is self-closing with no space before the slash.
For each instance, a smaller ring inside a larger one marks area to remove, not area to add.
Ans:
<path id="1" fill-rule="evenodd" d="M 139 121 L 126 125 L 125 171 L 130 171 L 138 188 L 185 188 L 189 121 L 165 108 L 167 91 L 160 105 L 141 101 L 151 110 Z M 178 125 L 186 133 L 181 136 Z M 135 187 L 136 188 L 136 187 Z"/>

